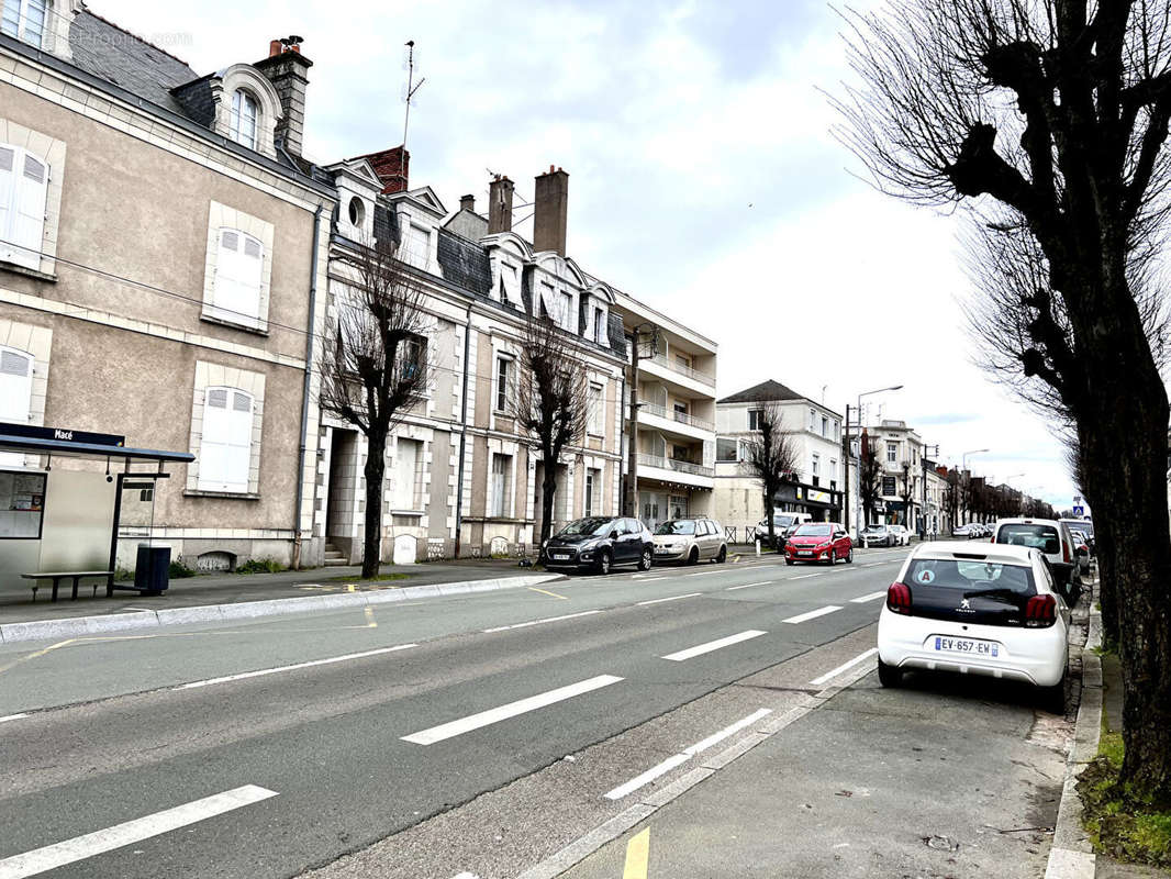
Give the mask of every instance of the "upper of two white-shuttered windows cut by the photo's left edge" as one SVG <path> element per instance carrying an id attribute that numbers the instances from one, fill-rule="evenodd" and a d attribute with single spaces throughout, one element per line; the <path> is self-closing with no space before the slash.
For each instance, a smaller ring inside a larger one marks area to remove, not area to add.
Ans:
<path id="1" fill-rule="evenodd" d="M 48 184 L 44 162 L 19 146 L 0 144 L 0 260 L 40 267 Z"/>

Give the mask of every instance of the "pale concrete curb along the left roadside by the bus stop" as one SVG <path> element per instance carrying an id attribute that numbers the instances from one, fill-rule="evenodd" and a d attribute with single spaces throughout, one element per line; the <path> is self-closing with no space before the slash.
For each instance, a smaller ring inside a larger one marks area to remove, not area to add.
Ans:
<path id="1" fill-rule="evenodd" d="M 49 638 L 80 638 L 82 635 L 153 628 L 157 626 L 185 626 L 192 622 L 220 622 L 222 620 L 245 620 L 258 616 L 311 613 L 314 611 L 335 611 L 345 607 L 384 605 L 419 598 L 467 595 L 473 592 L 493 592 L 495 590 L 536 586 L 560 579 L 563 579 L 562 574 L 529 574 L 522 577 L 500 577 L 492 580 L 424 584 L 420 586 L 404 586 L 403 588 L 379 590 L 377 592 L 347 592 L 337 595 L 304 595 L 299 598 L 267 599 L 263 601 L 238 601 L 230 605 L 200 605 L 197 607 L 174 607 L 164 611 L 133 611 L 131 613 L 111 613 L 96 616 L 67 616 L 61 620 L 7 622 L 0 625 L 0 643 L 39 641 Z"/>

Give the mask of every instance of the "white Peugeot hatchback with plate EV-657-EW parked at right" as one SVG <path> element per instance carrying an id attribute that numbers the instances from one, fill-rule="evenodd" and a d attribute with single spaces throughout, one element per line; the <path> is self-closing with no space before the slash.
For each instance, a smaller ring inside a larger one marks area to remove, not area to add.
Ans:
<path id="1" fill-rule="evenodd" d="M 1026 681 L 1063 713 L 1069 607 L 1030 546 L 919 544 L 878 615 L 878 680 L 909 669 Z"/>

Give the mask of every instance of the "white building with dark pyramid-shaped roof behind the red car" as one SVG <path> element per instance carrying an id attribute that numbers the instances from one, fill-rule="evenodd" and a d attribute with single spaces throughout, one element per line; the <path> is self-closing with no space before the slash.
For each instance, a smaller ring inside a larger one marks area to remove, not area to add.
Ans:
<path id="1" fill-rule="evenodd" d="M 744 533 L 765 516 L 760 481 L 752 476 L 748 444 L 760 436 L 766 407 L 775 407 L 796 452 L 790 478 L 774 498 L 775 511 L 842 522 L 844 468 L 842 416 L 776 381 L 765 381 L 717 403 L 715 518 Z"/>

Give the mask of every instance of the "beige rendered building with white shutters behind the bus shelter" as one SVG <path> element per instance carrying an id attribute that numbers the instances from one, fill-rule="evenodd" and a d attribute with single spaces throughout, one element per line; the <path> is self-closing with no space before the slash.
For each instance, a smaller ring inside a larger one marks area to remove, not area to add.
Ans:
<path id="1" fill-rule="evenodd" d="M 200 74 L 77 0 L 43 9 L 0 28 L 0 421 L 196 456 L 126 490 L 124 566 L 144 539 L 204 570 L 289 564 L 334 210 L 299 156 L 311 62 L 274 41 Z"/>

